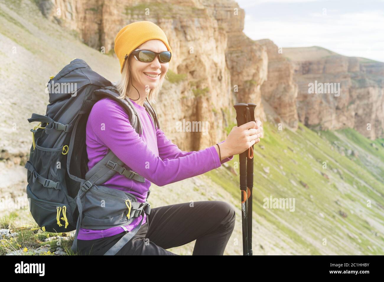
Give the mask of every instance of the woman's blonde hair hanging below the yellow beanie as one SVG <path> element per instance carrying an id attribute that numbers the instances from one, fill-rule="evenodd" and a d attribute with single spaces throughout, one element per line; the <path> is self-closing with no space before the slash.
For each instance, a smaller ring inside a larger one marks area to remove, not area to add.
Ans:
<path id="1" fill-rule="evenodd" d="M 116 88 L 118 89 L 120 96 L 118 97 L 119 99 L 125 99 L 129 98 L 127 94 L 129 93 L 132 84 L 132 69 L 131 65 L 128 63 L 128 58 L 124 61 L 122 73 L 121 73 L 121 78 L 120 80 L 116 83 Z M 150 103 L 156 103 L 156 98 L 159 95 L 159 92 L 161 91 L 161 87 L 163 86 L 164 79 L 166 78 L 167 74 L 161 79 L 159 84 L 154 88 L 149 90 L 149 94 L 147 96 L 147 99 L 149 100 Z"/>

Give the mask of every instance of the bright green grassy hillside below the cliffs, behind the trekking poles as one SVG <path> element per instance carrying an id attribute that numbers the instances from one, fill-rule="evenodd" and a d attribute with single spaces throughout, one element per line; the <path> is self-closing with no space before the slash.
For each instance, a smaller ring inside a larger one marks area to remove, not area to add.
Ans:
<path id="1" fill-rule="evenodd" d="M 264 130 L 265 138 L 254 146 L 256 222 L 265 218 L 295 242 L 293 249 L 305 247 L 308 254 L 384 254 L 384 142 L 372 142 L 353 129 L 316 133 L 300 124 L 293 132 L 265 123 Z M 358 157 L 348 156 L 348 149 Z M 230 165 L 239 172 L 238 155 Z M 238 175 L 228 171 L 223 177 L 218 170 L 207 175 L 240 207 Z M 263 208 L 270 196 L 295 198 L 295 210 Z M 256 254 L 259 236 L 254 230 Z"/>

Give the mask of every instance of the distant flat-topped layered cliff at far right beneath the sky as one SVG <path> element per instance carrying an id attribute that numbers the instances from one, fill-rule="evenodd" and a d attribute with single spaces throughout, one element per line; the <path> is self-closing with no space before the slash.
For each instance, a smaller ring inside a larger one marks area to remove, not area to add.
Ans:
<path id="1" fill-rule="evenodd" d="M 316 46 L 284 48 L 283 54 L 294 66 L 298 117 L 305 125 L 352 127 L 370 139 L 384 136 L 384 63 Z"/>

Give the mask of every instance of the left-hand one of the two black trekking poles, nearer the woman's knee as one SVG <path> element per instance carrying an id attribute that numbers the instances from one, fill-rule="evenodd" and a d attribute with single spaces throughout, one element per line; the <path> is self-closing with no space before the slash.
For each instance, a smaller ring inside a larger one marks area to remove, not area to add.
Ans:
<path id="1" fill-rule="evenodd" d="M 239 103 L 233 106 L 236 110 L 237 126 L 246 123 L 246 112 L 248 105 Z M 249 112 L 249 109 L 248 109 Z M 243 255 L 248 256 L 248 212 L 247 212 L 247 151 L 239 154 L 240 161 L 240 191 L 241 191 L 241 210 L 242 210 L 242 227 L 243 227 Z"/>

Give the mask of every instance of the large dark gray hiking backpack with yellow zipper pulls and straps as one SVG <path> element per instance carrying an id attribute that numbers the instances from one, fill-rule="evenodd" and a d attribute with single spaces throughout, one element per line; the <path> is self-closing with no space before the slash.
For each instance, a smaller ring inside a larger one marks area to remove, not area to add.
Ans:
<path id="1" fill-rule="evenodd" d="M 31 129 L 33 144 L 25 165 L 26 193 L 30 211 L 43 231 L 60 233 L 76 229 L 71 250 L 77 251 L 79 228 L 108 229 L 126 226 L 151 208 L 131 193 L 102 186 L 115 173 L 135 181 L 145 179 L 108 150 L 88 171 L 85 132 L 89 112 L 104 97 L 118 101 L 126 110 L 138 134 L 142 126 L 132 102 L 119 99 L 114 84 L 94 72 L 82 59 L 74 59 L 48 82 L 49 102 L 45 115 L 32 114 L 28 122 L 40 122 Z M 144 107 L 160 128 L 154 109 Z M 151 191 L 149 190 L 149 193 Z M 147 196 L 147 198 L 148 198 Z M 127 232 L 105 255 L 116 254 L 139 230 Z"/>

